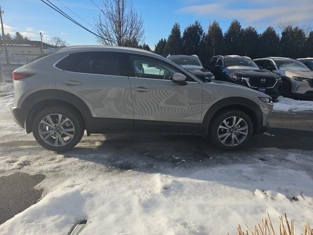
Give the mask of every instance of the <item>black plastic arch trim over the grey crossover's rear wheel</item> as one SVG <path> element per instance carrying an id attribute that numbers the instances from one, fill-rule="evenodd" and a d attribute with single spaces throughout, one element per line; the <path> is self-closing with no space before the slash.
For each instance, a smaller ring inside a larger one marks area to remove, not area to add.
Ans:
<path id="1" fill-rule="evenodd" d="M 88 120 L 92 118 L 91 112 L 87 104 L 77 95 L 71 94 L 63 90 L 56 89 L 46 89 L 34 92 L 28 95 L 25 100 L 23 100 L 21 109 L 25 114 L 24 127 L 27 133 L 31 130 L 31 120 L 34 118 L 34 111 L 36 110 L 36 105 L 42 104 L 45 106 L 45 102 L 54 101 L 57 103 L 68 103 L 78 110 L 84 119 L 85 125 L 89 123 Z M 88 129 L 88 126 L 85 126 Z"/>

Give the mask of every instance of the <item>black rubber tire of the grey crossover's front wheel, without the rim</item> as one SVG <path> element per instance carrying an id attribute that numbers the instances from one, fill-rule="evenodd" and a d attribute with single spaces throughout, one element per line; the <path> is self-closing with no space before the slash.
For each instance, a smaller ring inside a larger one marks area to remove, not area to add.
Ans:
<path id="1" fill-rule="evenodd" d="M 241 143 L 239 143 L 238 145 L 234 145 L 234 146 L 227 146 L 227 145 L 225 145 L 224 143 L 222 143 L 222 141 L 220 141 L 220 139 L 218 137 L 220 124 L 225 119 L 230 118 L 230 117 L 242 118 L 246 122 L 246 126 L 247 126 L 246 138 L 245 139 L 241 138 L 241 139 L 243 139 L 243 141 Z M 252 124 L 251 118 L 245 112 L 243 112 L 241 110 L 236 110 L 236 109 L 224 110 L 224 111 L 218 112 L 213 117 L 213 119 L 212 119 L 212 121 L 210 123 L 210 126 L 209 126 L 209 131 L 208 131 L 209 140 L 217 148 L 223 149 L 223 150 L 235 150 L 235 149 L 238 149 L 238 148 L 241 148 L 241 147 L 245 146 L 246 143 L 251 140 L 252 135 L 253 135 L 253 124 Z"/>

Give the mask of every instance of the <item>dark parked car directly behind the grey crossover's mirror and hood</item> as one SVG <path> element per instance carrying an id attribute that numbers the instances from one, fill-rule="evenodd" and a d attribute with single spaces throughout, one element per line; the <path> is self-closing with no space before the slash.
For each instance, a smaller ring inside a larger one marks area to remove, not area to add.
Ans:
<path id="1" fill-rule="evenodd" d="M 205 69 L 201 60 L 197 55 L 168 55 L 167 59 L 173 61 L 174 63 L 180 65 L 184 69 L 190 71 L 192 74 L 196 75 L 203 82 L 215 79 L 212 72 Z"/>

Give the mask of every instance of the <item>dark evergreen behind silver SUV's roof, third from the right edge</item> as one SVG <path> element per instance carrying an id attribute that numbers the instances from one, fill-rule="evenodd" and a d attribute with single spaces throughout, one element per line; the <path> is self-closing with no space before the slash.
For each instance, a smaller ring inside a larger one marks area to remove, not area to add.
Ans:
<path id="1" fill-rule="evenodd" d="M 260 47 L 258 57 L 268 57 L 280 55 L 279 36 L 275 29 L 267 27 L 260 37 Z"/>

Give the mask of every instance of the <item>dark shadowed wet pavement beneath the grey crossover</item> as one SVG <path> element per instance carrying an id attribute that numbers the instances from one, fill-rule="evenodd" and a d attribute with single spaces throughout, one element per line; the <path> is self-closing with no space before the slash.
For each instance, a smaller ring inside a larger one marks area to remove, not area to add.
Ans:
<path id="1" fill-rule="evenodd" d="M 219 150 L 201 136 L 97 135 L 83 138 L 78 147 L 64 155 L 121 170 L 166 173 L 175 168 L 260 163 L 268 161 L 266 154 L 272 148 L 313 150 L 312 135 L 310 131 L 271 128 L 267 134 L 255 135 L 237 151 Z"/>

